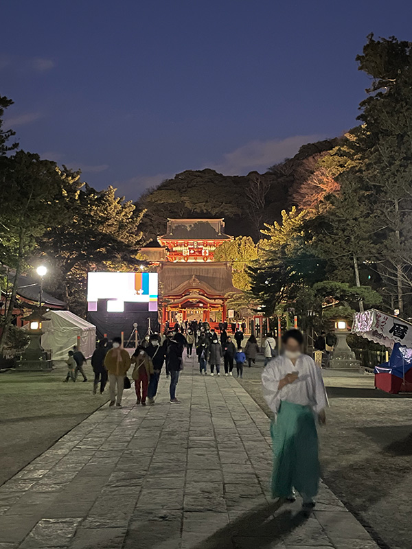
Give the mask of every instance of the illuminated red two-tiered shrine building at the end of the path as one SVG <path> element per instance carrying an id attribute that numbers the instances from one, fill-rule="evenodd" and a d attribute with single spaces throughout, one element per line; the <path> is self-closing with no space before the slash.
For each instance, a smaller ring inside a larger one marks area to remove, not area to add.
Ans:
<path id="1" fill-rule="evenodd" d="M 176 320 L 216 325 L 227 318 L 226 295 L 240 290 L 233 286 L 231 266 L 214 261 L 214 251 L 232 239 L 223 219 L 170 219 L 158 244 L 141 248 L 159 273 L 162 329 Z"/>

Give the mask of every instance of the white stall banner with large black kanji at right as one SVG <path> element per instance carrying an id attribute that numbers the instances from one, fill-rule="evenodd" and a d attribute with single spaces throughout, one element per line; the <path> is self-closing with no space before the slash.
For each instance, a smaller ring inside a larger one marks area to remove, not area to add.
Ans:
<path id="1" fill-rule="evenodd" d="M 352 334 L 393 349 L 395 343 L 412 348 L 412 324 L 406 320 L 369 309 L 354 314 Z"/>

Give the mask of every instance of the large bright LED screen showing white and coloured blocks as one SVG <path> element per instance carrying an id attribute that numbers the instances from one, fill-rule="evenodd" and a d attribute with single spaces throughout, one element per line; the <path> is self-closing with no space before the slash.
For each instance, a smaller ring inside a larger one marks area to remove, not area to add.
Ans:
<path id="1" fill-rule="evenodd" d="M 89 272 L 87 275 L 89 311 L 157 311 L 158 294 L 157 272 Z"/>

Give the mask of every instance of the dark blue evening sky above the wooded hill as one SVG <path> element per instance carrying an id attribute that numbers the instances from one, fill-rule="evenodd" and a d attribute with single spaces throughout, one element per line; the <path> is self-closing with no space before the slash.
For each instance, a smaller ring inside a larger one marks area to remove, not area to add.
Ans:
<path id="1" fill-rule="evenodd" d="M 1 7 L 0 94 L 25 150 L 127 198 L 187 169 L 245 174 L 355 124 L 366 35 L 410 0 L 23 0 Z"/>

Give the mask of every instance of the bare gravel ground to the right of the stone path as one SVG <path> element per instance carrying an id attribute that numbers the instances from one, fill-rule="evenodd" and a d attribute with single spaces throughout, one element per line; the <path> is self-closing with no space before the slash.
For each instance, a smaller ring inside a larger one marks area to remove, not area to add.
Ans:
<path id="1" fill-rule="evenodd" d="M 240 384 L 262 398 L 262 361 Z M 328 423 L 319 430 L 323 479 L 383 548 L 411 549 L 412 395 L 374 389 L 374 376 L 323 371 Z"/>

